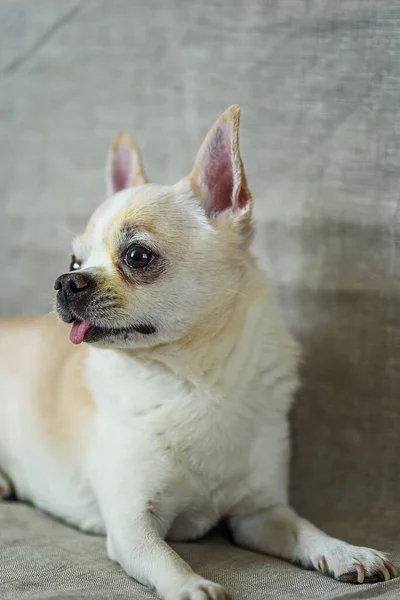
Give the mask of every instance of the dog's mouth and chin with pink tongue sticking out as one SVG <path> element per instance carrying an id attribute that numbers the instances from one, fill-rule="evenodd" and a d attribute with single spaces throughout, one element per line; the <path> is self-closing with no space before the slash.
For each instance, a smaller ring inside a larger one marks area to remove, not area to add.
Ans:
<path id="1" fill-rule="evenodd" d="M 64 323 L 71 324 L 70 340 L 74 344 L 82 342 L 99 346 L 127 347 L 140 338 L 148 338 L 156 333 L 156 327 L 151 323 L 132 323 L 120 327 L 118 324 L 99 325 L 96 318 L 81 317 L 63 306 L 57 306 L 58 317 Z"/>

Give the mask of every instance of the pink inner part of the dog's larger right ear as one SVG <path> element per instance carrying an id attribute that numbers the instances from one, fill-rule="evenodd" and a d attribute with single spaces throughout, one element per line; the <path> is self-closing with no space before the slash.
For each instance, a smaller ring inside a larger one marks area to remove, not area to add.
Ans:
<path id="1" fill-rule="evenodd" d="M 232 165 L 232 131 L 224 124 L 214 132 L 206 150 L 202 176 L 209 193 L 207 211 L 219 213 L 232 206 L 234 172 Z"/>

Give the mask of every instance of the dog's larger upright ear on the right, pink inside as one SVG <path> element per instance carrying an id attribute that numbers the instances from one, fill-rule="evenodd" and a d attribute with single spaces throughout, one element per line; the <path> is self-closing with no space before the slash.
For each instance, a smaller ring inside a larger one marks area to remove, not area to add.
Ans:
<path id="1" fill-rule="evenodd" d="M 209 217 L 250 222 L 251 193 L 239 153 L 237 105 L 228 108 L 206 136 L 189 175 Z"/>

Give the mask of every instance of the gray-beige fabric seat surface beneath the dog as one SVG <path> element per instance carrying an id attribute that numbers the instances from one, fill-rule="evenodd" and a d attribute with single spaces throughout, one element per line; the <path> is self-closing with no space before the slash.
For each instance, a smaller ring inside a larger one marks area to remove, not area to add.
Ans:
<path id="1" fill-rule="evenodd" d="M 2 600 L 155 597 L 107 558 L 104 538 L 83 534 L 33 508 L 2 505 L 0 532 Z M 234 600 L 389 600 L 400 593 L 399 580 L 365 586 L 340 583 L 232 546 L 219 533 L 201 542 L 174 544 L 174 548 L 196 571 L 226 585 Z"/>

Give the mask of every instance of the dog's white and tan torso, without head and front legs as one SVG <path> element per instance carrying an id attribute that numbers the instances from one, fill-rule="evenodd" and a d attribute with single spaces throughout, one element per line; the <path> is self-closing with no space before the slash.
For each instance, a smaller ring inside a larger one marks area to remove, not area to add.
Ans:
<path id="1" fill-rule="evenodd" d="M 263 282 L 256 284 L 253 302 L 247 287 L 226 329 L 185 349 L 190 367 L 179 351 L 131 359 L 76 348 L 52 317 L 0 328 L 0 456 L 17 496 L 106 533 L 93 479 L 99 464 L 102 477 L 108 468 L 114 477 L 127 462 L 124 477 L 132 475 L 134 488 L 137 471 L 146 471 L 143 501 L 155 514 L 167 493 L 163 502 L 176 513 L 170 539 L 196 538 L 223 516 L 286 503 L 282 462 L 297 352 L 283 328 L 274 330 Z M 7 359 L 16 343 L 18 371 Z"/>

